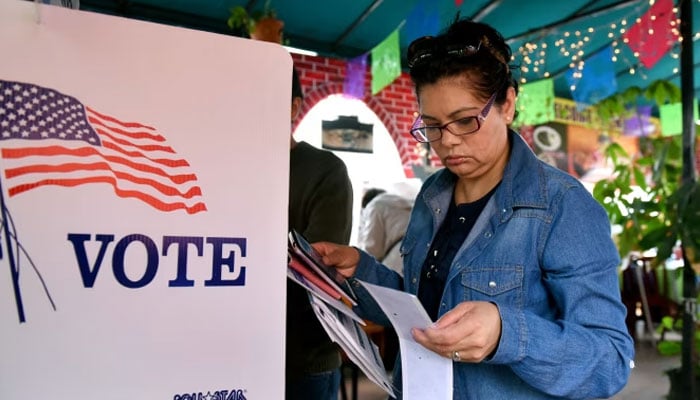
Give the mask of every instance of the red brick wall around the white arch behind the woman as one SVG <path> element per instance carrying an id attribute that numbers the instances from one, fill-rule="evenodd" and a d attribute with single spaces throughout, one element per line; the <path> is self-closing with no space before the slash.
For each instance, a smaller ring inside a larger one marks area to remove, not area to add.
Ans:
<path id="1" fill-rule="evenodd" d="M 292 58 L 304 89 L 301 116 L 297 118 L 292 127 L 295 129 L 304 115 L 319 101 L 330 95 L 343 93 L 346 61 L 299 54 L 292 54 Z M 362 100 L 389 131 L 389 135 L 399 151 L 406 176 L 412 177 L 411 166 L 424 164 L 424 157 L 417 151 L 419 147 L 409 133 L 417 111 L 416 96 L 413 92 L 411 79 L 408 74 L 402 73 L 375 96 L 370 94 L 370 84 L 371 75 L 369 68 L 367 68 L 365 72 L 365 97 Z M 431 165 L 439 163 L 434 153 L 431 153 L 430 162 Z"/>

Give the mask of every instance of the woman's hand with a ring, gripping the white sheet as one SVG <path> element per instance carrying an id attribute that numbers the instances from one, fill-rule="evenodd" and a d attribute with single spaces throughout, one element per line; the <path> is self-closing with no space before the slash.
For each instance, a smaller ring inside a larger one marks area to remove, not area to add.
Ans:
<path id="1" fill-rule="evenodd" d="M 501 315 L 496 305 L 465 301 L 426 329 L 413 329 L 413 338 L 429 350 L 454 361 L 480 362 L 498 347 Z"/>

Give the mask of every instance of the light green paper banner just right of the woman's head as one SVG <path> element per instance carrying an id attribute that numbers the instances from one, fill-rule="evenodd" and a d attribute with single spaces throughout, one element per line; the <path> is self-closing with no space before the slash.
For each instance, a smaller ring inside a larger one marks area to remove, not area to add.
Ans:
<path id="1" fill-rule="evenodd" d="M 554 81 L 542 79 L 520 87 L 518 125 L 539 125 L 554 120 Z"/>

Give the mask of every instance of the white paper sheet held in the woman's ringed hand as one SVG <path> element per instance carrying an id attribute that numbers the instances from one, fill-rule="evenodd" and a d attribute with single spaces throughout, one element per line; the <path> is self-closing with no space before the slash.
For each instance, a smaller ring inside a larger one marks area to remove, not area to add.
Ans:
<path id="1" fill-rule="evenodd" d="M 399 290 L 359 282 L 396 330 L 401 351 L 403 399 L 452 399 L 452 360 L 421 346 L 411 335 L 412 328 L 422 329 L 432 324 L 418 298 Z"/>

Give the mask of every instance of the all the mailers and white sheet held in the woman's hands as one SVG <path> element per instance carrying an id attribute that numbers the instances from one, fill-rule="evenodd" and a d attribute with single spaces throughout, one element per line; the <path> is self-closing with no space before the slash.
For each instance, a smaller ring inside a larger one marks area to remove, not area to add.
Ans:
<path id="1" fill-rule="evenodd" d="M 372 382 L 395 396 L 379 349 L 362 329 L 365 322 L 351 308 L 356 302 L 349 282 L 334 268 L 323 265 L 321 257 L 297 232 L 289 235 L 287 276 L 307 290 L 328 336 Z M 405 292 L 359 282 L 382 308 L 399 337 L 403 399 L 451 399 L 452 360 L 421 346 L 411 335 L 412 328 L 423 329 L 432 324 L 418 299 Z"/>

